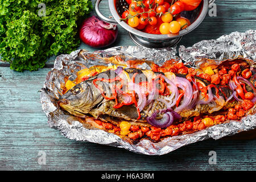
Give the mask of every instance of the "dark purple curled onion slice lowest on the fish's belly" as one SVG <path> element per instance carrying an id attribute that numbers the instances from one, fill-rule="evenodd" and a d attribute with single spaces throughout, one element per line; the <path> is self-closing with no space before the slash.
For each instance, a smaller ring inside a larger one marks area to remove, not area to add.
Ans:
<path id="1" fill-rule="evenodd" d="M 163 114 L 162 119 L 156 119 L 156 116 L 158 115 L 159 111 L 156 111 L 151 115 L 151 117 L 147 117 L 147 122 L 155 127 L 160 127 L 160 128 L 166 128 L 170 126 L 174 122 L 174 116 L 172 115 L 171 112 L 167 112 Z"/>

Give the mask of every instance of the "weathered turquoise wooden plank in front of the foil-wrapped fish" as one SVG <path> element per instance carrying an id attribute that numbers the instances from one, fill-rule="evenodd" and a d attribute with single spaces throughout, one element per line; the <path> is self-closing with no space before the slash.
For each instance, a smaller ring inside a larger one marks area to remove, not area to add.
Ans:
<path id="1" fill-rule="evenodd" d="M 205 140 L 163 156 L 134 154 L 110 146 L 76 142 L 48 127 L 40 93 L 50 69 L 18 73 L 0 67 L 0 169 L 186 170 L 255 169 L 256 140 Z M 38 152 L 46 152 L 39 165 Z M 208 163 L 217 152 L 217 165 Z"/>

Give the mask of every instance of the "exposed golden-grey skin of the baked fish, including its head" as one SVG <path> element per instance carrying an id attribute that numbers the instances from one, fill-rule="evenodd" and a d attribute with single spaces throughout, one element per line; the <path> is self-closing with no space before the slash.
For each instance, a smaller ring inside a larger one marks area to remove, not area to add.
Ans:
<path id="1" fill-rule="evenodd" d="M 124 69 L 127 73 L 129 73 L 129 76 L 133 75 L 134 73 L 143 74 L 143 72 L 140 69 L 136 68 L 128 68 Z M 156 73 L 156 72 L 154 72 Z M 162 72 L 158 72 L 158 74 L 164 74 Z M 144 74 L 143 74 L 144 75 Z M 128 105 L 128 106 L 122 106 L 119 109 L 115 109 L 113 106 L 115 104 L 114 100 L 105 100 L 105 98 L 101 95 L 100 90 L 96 88 L 96 86 L 93 84 L 93 80 L 98 77 L 104 77 L 104 76 L 110 76 L 110 78 L 114 78 L 117 75 L 114 71 L 105 71 L 102 73 L 99 73 L 96 76 L 90 77 L 88 80 L 85 80 L 81 82 L 80 84 L 77 84 L 72 89 L 68 90 L 67 93 L 65 93 L 63 96 L 60 97 L 59 103 L 60 107 L 64 110 L 67 110 L 70 114 L 76 115 L 77 117 L 86 117 L 86 114 L 93 115 L 94 118 L 101 118 L 104 115 L 109 115 L 110 117 L 115 117 L 119 119 L 123 119 L 125 121 L 132 121 L 132 122 L 138 122 L 138 123 L 145 123 L 146 117 L 151 116 L 156 110 L 162 110 L 166 109 L 166 106 L 163 104 L 163 102 L 159 102 L 154 100 L 152 102 L 151 109 L 148 109 L 148 106 L 144 107 L 144 109 L 141 111 L 141 119 L 138 118 L 137 108 L 134 104 Z M 176 76 L 179 77 L 185 77 L 185 75 L 176 74 Z M 145 76 L 146 77 L 146 76 Z M 205 85 L 209 85 L 210 83 L 203 78 L 196 77 L 197 79 L 203 81 Z M 139 82 L 138 80 L 135 83 Z M 97 83 L 98 85 L 104 87 L 104 90 L 106 93 L 111 93 L 110 87 L 112 83 L 106 84 L 106 82 L 99 81 Z M 219 88 L 219 85 L 216 85 L 217 88 Z M 80 92 L 75 93 L 75 90 L 79 88 Z M 212 88 L 213 94 L 216 94 L 216 90 Z M 228 97 L 230 94 L 232 94 L 232 90 L 224 90 Z M 220 92 L 220 95 L 222 93 Z M 222 94 L 223 95 L 223 94 Z M 224 97 L 225 98 L 225 97 Z M 227 105 L 228 106 L 228 105 Z M 233 104 L 230 104 L 230 107 L 233 106 Z M 200 105 L 196 108 L 193 108 L 191 110 L 184 110 L 179 113 L 181 117 L 183 118 L 189 118 L 195 115 L 199 115 L 200 113 L 207 113 L 209 110 L 208 105 Z M 226 108 L 226 107 L 225 107 Z"/>

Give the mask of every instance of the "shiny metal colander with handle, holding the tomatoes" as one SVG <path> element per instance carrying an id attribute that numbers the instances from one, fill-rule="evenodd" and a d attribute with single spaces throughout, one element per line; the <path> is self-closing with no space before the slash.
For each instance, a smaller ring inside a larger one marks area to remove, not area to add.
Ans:
<path id="1" fill-rule="evenodd" d="M 126 0 L 108 0 L 109 2 L 109 10 L 113 16 L 113 18 L 106 18 L 101 14 L 99 6 L 102 0 L 96 0 L 95 3 L 95 11 L 97 16 L 104 20 L 105 22 L 112 24 L 119 24 L 125 30 L 128 31 L 128 35 L 131 40 L 138 46 L 148 47 L 148 48 L 163 48 L 163 47 L 172 47 L 175 46 L 181 40 L 182 36 L 188 34 L 192 30 L 194 30 L 205 18 L 208 12 L 209 2 L 208 0 L 203 0 L 197 9 L 193 11 L 183 11 L 181 12 L 181 16 L 188 18 L 191 22 L 191 25 L 184 30 L 181 30 L 179 34 L 148 34 L 146 32 L 137 30 L 133 27 L 130 27 L 126 22 L 121 21 L 120 18 L 122 13 L 129 8 Z M 126 7 L 126 9 L 125 9 Z"/>

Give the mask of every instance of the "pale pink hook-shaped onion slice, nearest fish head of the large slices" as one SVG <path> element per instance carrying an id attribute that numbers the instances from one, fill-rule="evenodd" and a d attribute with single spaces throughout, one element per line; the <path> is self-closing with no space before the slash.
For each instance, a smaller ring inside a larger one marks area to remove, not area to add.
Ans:
<path id="1" fill-rule="evenodd" d="M 127 84 L 128 89 L 135 91 L 135 93 L 137 93 L 139 100 L 138 100 L 138 109 L 139 111 L 142 111 L 144 106 L 146 106 L 146 102 L 147 102 L 147 98 L 146 98 L 146 88 L 144 88 L 143 86 L 140 86 L 138 84 L 135 84 L 134 82 L 129 82 Z"/>

